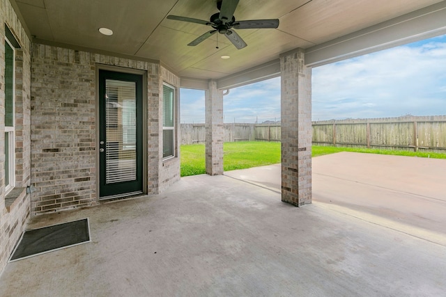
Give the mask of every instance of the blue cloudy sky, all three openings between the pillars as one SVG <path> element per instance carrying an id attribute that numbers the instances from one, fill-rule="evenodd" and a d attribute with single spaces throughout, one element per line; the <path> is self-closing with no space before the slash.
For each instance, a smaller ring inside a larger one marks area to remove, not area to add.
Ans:
<path id="1" fill-rule="evenodd" d="M 280 77 L 233 88 L 224 122 L 280 120 Z M 180 89 L 181 123 L 205 120 L 204 91 Z M 312 69 L 312 120 L 446 115 L 446 35 Z"/>

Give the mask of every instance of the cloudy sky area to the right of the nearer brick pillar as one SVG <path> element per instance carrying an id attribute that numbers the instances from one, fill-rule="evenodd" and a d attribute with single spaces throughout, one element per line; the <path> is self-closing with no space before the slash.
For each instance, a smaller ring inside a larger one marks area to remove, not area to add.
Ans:
<path id="1" fill-rule="evenodd" d="M 313 120 L 446 114 L 446 38 L 437 39 L 315 68 Z"/>

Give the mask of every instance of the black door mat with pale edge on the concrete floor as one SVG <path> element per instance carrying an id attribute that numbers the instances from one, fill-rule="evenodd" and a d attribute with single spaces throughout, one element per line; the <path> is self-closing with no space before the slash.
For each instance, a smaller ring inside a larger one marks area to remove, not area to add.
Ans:
<path id="1" fill-rule="evenodd" d="M 9 262 L 90 242 L 89 219 L 28 230 L 22 235 Z"/>

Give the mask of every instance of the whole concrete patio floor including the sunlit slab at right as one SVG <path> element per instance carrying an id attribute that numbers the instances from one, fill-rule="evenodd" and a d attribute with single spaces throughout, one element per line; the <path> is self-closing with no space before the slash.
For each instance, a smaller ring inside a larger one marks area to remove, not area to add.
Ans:
<path id="1" fill-rule="evenodd" d="M 34 217 L 29 228 L 88 217 L 92 242 L 8 264 L 0 296 L 444 296 L 446 161 L 369 156 L 314 158 L 302 208 L 280 201 L 269 170 Z"/>

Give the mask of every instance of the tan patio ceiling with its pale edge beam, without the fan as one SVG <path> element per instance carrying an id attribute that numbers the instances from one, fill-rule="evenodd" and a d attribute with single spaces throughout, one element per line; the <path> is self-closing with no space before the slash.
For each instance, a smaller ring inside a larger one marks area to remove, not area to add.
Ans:
<path id="1" fill-rule="evenodd" d="M 183 78 L 182 86 L 197 88 L 207 79 L 228 88 L 277 75 L 279 55 L 298 47 L 317 66 L 446 33 L 446 1 L 439 0 L 240 0 L 237 20 L 280 22 L 277 29 L 236 30 L 244 49 L 220 34 L 189 47 L 212 28 L 167 19 L 208 20 L 218 12 L 216 0 L 12 2 L 34 42 L 157 60 Z M 114 34 L 102 35 L 100 27 Z"/>

